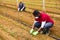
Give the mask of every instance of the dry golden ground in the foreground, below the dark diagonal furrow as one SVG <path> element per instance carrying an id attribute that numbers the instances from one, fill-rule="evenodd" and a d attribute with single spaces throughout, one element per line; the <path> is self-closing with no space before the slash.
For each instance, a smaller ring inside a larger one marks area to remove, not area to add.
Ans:
<path id="1" fill-rule="evenodd" d="M 0 30 L 1 30 L 0 32 L 3 33 L 1 36 L 3 37 L 4 40 L 40 40 L 40 39 L 54 40 L 53 38 L 41 34 L 37 35 L 36 37 L 32 36 L 29 34 L 30 30 L 29 27 L 26 27 L 20 23 L 15 22 L 12 19 L 3 17 L 1 15 L 0 15 Z"/>

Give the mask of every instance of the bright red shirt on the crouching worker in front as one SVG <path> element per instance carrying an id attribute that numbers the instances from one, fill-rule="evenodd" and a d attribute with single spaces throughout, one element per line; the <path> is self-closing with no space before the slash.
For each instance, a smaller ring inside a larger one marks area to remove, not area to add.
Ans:
<path id="1" fill-rule="evenodd" d="M 41 12 L 40 16 L 38 18 L 35 18 L 35 20 L 40 23 L 42 23 L 42 21 L 46 21 L 46 22 L 52 22 L 54 24 L 54 21 L 50 18 L 50 16 L 44 12 Z"/>

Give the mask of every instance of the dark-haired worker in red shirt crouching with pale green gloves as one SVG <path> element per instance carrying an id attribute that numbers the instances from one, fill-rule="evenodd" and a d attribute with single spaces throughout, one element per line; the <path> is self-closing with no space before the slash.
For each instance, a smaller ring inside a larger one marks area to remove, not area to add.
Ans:
<path id="1" fill-rule="evenodd" d="M 33 35 L 37 35 L 39 32 L 42 32 L 42 34 L 48 34 L 49 29 L 52 28 L 54 24 L 54 21 L 51 19 L 51 17 L 45 12 L 39 12 L 38 10 L 33 12 L 33 16 L 35 17 L 35 21 L 30 33 Z M 38 30 L 34 31 L 34 28 L 38 28 Z"/>

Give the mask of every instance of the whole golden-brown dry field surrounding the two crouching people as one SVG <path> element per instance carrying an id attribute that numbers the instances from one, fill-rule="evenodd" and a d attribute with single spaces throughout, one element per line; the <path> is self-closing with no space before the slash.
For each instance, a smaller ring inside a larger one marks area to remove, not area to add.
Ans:
<path id="1" fill-rule="evenodd" d="M 47 35 L 29 33 L 35 9 L 43 11 L 42 0 L 19 0 L 26 5 L 26 12 L 17 11 L 16 0 L 0 0 L 0 40 L 55 40 Z M 52 36 L 60 38 L 60 0 L 45 0 L 45 11 L 54 20 Z"/>

